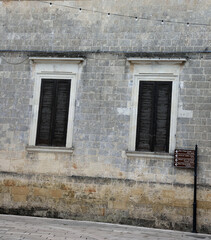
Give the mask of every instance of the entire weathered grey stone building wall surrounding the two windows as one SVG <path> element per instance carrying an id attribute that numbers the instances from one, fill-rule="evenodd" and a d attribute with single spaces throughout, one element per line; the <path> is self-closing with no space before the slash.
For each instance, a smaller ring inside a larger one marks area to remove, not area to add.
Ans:
<path id="1" fill-rule="evenodd" d="M 200 23 L 210 21 L 211 9 L 208 2 L 175 0 L 66 4 Z M 132 95 L 127 57 L 187 58 L 180 73 L 176 147 L 198 144 L 198 231 L 211 233 L 211 58 L 204 52 L 210 27 L 136 22 L 33 1 L 3 1 L 0 22 L 1 212 L 191 231 L 193 171 L 173 167 L 171 156 L 125 154 Z M 26 150 L 34 89 L 30 56 L 85 59 L 72 155 Z"/>

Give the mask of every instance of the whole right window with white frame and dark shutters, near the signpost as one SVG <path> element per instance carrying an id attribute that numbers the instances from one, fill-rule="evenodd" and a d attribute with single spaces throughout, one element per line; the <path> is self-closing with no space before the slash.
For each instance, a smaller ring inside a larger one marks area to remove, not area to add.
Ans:
<path id="1" fill-rule="evenodd" d="M 173 153 L 179 72 L 186 60 L 129 58 L 128 61 L 133 79 L 127 154 Z"/>

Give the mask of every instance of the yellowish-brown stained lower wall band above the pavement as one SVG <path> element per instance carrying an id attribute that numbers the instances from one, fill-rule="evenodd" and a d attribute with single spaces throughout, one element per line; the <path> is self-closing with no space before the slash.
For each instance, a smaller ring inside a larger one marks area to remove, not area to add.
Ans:
<path id="1" fill-rule="evenodd" d="M 0 212 L 192 230 L 192 184 L 1 173 Z M 211 189 L 198 187 L 197 230 L 211 233 Z"/>

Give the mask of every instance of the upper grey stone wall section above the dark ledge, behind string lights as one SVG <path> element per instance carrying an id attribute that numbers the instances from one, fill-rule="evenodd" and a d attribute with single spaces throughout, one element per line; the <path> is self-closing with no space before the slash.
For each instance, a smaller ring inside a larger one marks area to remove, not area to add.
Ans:
<path id="1" fill-rule="evenodd" d="M 186 22 L 210 23 L 210 1 L 87 0 L 54 4 L 2 1 L 1 49 L 44 51 L 201 51 L 210 47 L 210 27 L 187 27 Z M 79 8 L 172 20 L 184 24 L 107 16 Z"/>

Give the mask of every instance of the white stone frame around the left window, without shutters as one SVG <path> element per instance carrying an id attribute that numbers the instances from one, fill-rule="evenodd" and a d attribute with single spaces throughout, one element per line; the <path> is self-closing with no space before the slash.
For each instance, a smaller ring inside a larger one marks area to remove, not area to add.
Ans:
<path id="1" fill-rule="evenodd" d="M 31 57 L 31 77 L 34 81 L 32 105 L 32 118 L 29 133 L 28 151 L 38 152 L 73 152 L 73 121 L 77 83 L 81 73 L 83 58 L 39 58 Z M 67 137 L 65 147 L 36 146 L 37 122 L 42 79 L 66 79 L 71 81 L 69 113 L 67 123 Z"/>

